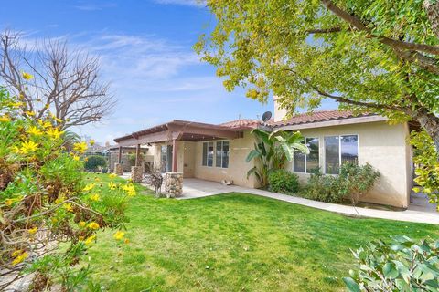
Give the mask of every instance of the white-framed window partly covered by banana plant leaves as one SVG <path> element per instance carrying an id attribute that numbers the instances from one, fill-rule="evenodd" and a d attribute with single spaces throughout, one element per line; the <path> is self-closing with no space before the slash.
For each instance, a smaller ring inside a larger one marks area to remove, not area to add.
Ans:
<path id="1" fill-rule="evenodd" d="M 318 138 L 305 138 L 306 146 L 308 146 L 309 154 L 295 151 L 293 171 L 313 173 L 319 167 L 319 143 Z"/>

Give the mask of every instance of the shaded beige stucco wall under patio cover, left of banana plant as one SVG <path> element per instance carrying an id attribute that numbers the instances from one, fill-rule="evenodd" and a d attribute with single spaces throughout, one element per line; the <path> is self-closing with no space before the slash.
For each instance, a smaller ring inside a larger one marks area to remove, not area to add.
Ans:
<path id="1" fill-rule="evenodd" d="M 253 143 L 254 138 L 250 131 L 245 131 L 241 139 L 230 140 L 229 167 L 219 168 L 215 167 L 215 155 L 213 166 L 202 165 L 203 142 L 196 142 L 194 177 L 214 182 L 231 180 L 236 185 L 257 187 L 258 183 L 253 176 L 247 179 L 247 171 L 254 166 L 254 162 L 245 162 Z"/>

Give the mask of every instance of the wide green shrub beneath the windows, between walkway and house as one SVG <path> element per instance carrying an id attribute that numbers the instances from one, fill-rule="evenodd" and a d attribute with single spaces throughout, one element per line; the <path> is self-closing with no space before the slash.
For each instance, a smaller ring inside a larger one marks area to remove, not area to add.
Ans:
<path id="1" fill-rule="evenodd" d="M 345 163 L 340 167 L 340 174 L 336 176 L 324 175 L 322 172 L 311 174 L 300 194 L 307 199 L 327 203 L 339 203 L 344 198 L 349 198 L 355 205 L 379 177 L 380 172 L 375 171 L 369 163 Z"/>

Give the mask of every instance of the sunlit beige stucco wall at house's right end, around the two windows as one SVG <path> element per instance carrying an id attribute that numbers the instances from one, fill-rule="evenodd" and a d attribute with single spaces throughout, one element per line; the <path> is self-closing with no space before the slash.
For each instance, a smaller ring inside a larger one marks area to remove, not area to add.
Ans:
<path id="1" fill-rule="evenodd" d="M 359 164 L 369 162 L 380 172 L 374 188 L 364 202 L 407 207 L 412 187 L 411 147 L 407 143 L 406 124 L 389 125 L 384 121 L 301 130 L 305 137 L 319 138 L 319 164 L 325 165 L 324 137 L 343 134 L 359 135 Z M 292 163 L 288 166 L 293 171 Z M 295 172 L 302 183 L 309 174 Z"/>

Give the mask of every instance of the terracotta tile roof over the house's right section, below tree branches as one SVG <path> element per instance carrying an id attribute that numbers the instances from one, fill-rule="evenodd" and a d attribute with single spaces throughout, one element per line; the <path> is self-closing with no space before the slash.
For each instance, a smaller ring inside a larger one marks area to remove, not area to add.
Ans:
<path id="1" fill-rule="evenodd" d="M 313 122 L 326 121 L 326 120 L 341 120 L 341 119 L 348 119 L 355 117 L 366 117 L 371 115 L 373 114 L 354 115 L 351 111 L 342 111 L 342 110 L 316 110 L 311 113 L 297 114 L 289 120 L 272 122 L 271 125 L 274 127 L 291 126 L 291 125 L 306 124 L 306 123 L 313 123 Z"/>

